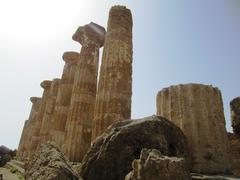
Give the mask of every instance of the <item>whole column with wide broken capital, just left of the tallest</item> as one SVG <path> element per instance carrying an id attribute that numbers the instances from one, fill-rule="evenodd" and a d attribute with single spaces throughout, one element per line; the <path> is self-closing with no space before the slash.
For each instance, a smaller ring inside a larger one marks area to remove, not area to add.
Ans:
<path id="1" fill-rule="evenodd" d="M 99 49 L 104 37 L 105 29 L 95 23 L 79 27 L 73 35 L 73 40 L 79 42 L 82 49 L 74 78 L 64 147 L 71 161 L 81 161 L 91 144 Z"/>

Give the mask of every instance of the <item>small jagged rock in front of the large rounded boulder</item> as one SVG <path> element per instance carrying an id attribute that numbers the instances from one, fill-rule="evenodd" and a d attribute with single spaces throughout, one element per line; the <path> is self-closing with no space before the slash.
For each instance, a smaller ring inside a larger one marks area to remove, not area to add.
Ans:
<path id="1" fill-rule="evenodd" d="M 143 149 L 139 159 L 132 163 L 133 170 L 125 180 L 190 180 L 184 158 L 163 156 L 156 149 Z"/>

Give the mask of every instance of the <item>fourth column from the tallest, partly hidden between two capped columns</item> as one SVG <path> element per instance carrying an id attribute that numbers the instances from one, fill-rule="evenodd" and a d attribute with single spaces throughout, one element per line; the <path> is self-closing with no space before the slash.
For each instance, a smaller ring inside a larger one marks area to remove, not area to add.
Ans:
<path id="1" fill-rule="evenodd" d="M 54 127 L 53 125 L 53 112 L 56 104 L 58 89 L 60 85 L 60 79 L 53 79 L 48 98 L 46 100 L 46 107 L 43 113 L 43 119 L 40 129 L 40 143 L 45 143 L 48 140 L 51 140 L 52 137 L 50 135 L 50 131 Z"/>

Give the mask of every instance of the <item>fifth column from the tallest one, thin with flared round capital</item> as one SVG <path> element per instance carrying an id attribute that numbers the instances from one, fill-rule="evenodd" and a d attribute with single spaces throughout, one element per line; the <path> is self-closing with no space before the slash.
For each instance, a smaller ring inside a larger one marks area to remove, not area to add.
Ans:
<path id="1" fill-rule="evenodd" d="M 41 103 L 39 105 L 36 122 L 34 123 L 33 133 L 30 139 L 30 144 L 31 144 L 29 147 L 30 155 L 34 153 L 34 151 L 37 149 L 40 143 L 40 129 L 42 126 L 43 116 L 46 109 L 46 103 L 49 98 L 51 84 L 52 84 L 52 81 L 48 81 L 48 80 L 45 80 L 40 84 L 44 90 L 43 90 Z"/>

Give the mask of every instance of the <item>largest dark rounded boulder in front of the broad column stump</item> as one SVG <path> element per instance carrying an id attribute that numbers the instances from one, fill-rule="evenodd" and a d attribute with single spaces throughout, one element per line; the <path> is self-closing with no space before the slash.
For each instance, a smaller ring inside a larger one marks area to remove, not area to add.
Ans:
<path id="1" fill-rule="evenodd" d="M 84 157 L 80 174 L 87 180 L 122 180 L 143 148 L 188 160 L 182 131 L 165 118 L 151 116 L 110 126 Z"/>

